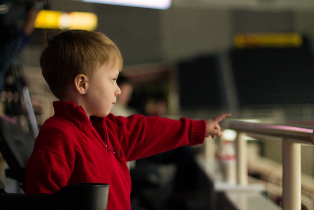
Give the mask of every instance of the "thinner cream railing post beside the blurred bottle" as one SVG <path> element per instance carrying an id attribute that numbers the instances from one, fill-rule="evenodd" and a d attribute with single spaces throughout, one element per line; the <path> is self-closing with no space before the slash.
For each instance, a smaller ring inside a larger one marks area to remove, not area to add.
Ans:
<path id="1" fill-rule="evenodd" d="M 247 142 L 244 136 L 245 133 L 237 133 L 236 136 L 237 181 L 241 186 L 245 186 L 248 183 Z"/>

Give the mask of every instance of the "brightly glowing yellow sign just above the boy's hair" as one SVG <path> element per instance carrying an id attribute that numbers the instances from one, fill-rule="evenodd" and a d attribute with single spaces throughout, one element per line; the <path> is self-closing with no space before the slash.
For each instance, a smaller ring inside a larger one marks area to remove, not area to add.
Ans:
<path id="1" fill-rule="evenodd" d="M 94 31 L 97 26 L 97 15 L 89 12 L 41 10 L 35 20 L 35 28 Z"/>

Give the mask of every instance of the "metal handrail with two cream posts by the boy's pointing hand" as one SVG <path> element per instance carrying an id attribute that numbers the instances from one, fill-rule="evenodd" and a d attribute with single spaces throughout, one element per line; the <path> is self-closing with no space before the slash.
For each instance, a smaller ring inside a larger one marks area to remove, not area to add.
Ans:
<path id="1" fill-rule="evenodd" d="M 313 126 L 279 125 L 244 120 L 226 121 L 223 129 L 237 132 L 237 184 L 248 184 L 247 144 L 245 135 L 255 139 L 282 140 L 284 210 L 301 210 L 301 145 L 313 145 Z M 271 138 L 270 138 L 271 137 Z"/>

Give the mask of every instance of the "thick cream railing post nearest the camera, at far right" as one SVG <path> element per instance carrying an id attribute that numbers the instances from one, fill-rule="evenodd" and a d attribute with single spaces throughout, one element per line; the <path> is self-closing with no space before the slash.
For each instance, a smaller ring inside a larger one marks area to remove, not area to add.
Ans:
<path id="1" fill-rule="evenodd" d="M 283 193 L 284 210 L 301 209 L 301 145 L 283 139 Z"/>

